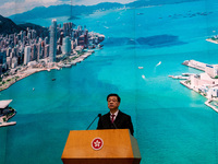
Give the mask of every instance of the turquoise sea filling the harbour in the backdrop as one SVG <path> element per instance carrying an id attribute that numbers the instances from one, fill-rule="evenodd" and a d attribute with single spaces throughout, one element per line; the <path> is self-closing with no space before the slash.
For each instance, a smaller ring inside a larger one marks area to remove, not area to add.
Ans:
<path id="1" fill-rule="evenodd" d="M 203 0 L 74 20 L 104 34 L 104 48 L 70 69 L 35 73 L 0 93 L 17 110 L 17 124 L 0 129 L 0 164 L 61 164 L 69 131 L 85 130 L 107 113 L 106 96 L 113 92 L 132 116 L 142 164 L 217 164 L 218 114 L 168 78 L 201 73 L 184 60 L 218 63 L 218 45 L 205 40 L 218 34 L 217 7 Z M 31 21 L 49 26 L 51 20 Z"/>

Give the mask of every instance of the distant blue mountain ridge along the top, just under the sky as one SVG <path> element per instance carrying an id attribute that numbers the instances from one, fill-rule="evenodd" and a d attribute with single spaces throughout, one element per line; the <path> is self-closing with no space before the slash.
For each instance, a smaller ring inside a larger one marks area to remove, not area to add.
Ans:
<path id="1" fill-rule="evenodd" d="M 33 10 L 14 14 L 9 16 L 16 23 L 24 23 L 25 21 L 34 19 L 48 19 L 48 17 L 58 17 L 58 16 L 69 16 L 71 20 L 78 19 L 80 15 L 92 14 L 96 11 L 107 11 L 111 9 L 121 9 L 121 8 L 143 8 L 148 5 L 160 5 L 160 4 L 171 4 L 171 3 L 182 3 L 182 2 L 192 2 L 199 0 L 137 0 L 126 4 L 121 4 L 118 2 L 102 2 L 95 5 L 70 5 L 70 4 L 60 4 L 60 5 L 50 5 L 50 7 L 37 7 Z M 17 21 L 19 20 L 19 21 Z"/>

